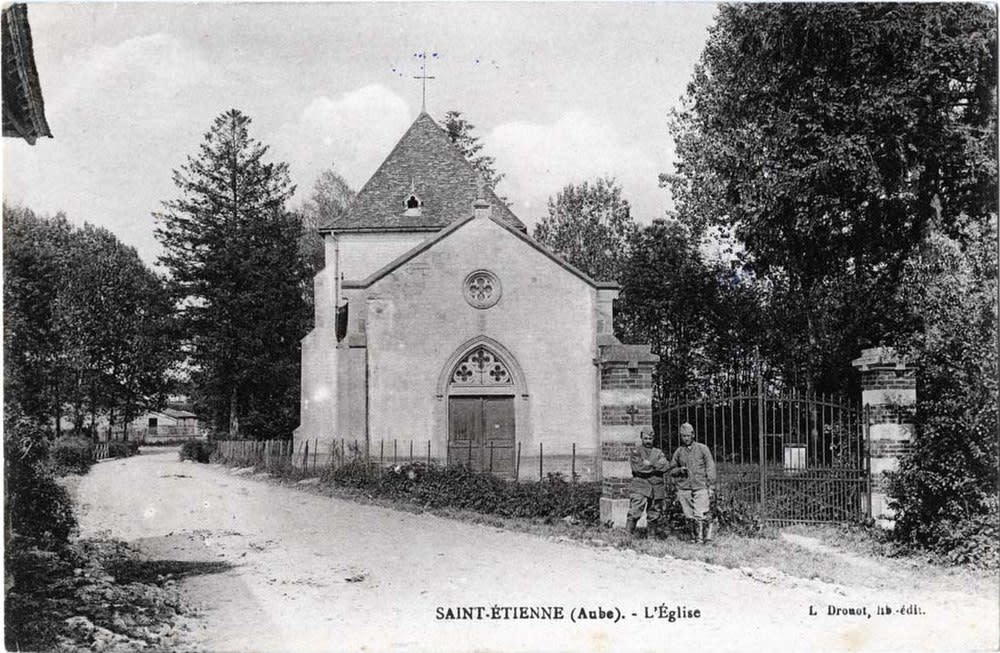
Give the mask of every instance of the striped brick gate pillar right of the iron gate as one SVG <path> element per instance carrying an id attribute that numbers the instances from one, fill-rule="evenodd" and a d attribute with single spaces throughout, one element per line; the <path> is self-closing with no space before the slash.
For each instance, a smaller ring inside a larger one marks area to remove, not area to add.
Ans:
<path id="1" fill-rule="evenodd" d="M 895 471 L 910 451 L 917 403 L 916 368 L 890 347 L 863 349 L 852 362 L 861 372 L 861 403 L 871 439 L 872 517 L 892 527 L 885 472 Z"/>

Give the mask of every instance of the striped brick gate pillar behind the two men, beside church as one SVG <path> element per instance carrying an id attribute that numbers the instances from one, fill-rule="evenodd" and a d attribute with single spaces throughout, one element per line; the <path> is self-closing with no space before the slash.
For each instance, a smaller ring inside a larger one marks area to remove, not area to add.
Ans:
<path id="1" fill-rule="evenodd" d="M 647 345 L 601 346 L 601 523 L 625 526 L 639 433 L 653 426 L 653 370 L 659 357 Z"/>

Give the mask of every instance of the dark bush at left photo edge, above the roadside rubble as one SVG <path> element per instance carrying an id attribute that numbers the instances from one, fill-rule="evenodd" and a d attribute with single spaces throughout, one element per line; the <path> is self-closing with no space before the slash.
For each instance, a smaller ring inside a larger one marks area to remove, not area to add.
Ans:
<path id="1" fill-rule="evenodd" d="M 19 537 L 65 543 L 76 528 L 66 490 L 48 460 L 47 434 L 31 422 L 8 417 L 4 426 L 6 508 Z"/>

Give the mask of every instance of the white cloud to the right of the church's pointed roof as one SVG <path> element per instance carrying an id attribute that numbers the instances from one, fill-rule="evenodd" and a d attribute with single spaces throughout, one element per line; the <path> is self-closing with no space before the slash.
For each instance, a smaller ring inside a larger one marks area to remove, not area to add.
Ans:
<path id="1" fill-rule="evenodd" d="M 514 211 L 533 225 L 547 214 L 547 201 L 569 183 L 611 175 L 622 185 L 632 214 L 648 221 L 663 212 L 657 158 L 631 144 L 614 124 L 579 110 L 568 111 L 548 125 L 508 122 L 483 138 L 506 177 L 497 189 L 514 202 Z M 657 144 L 651 144 L 657 147 Z"/>

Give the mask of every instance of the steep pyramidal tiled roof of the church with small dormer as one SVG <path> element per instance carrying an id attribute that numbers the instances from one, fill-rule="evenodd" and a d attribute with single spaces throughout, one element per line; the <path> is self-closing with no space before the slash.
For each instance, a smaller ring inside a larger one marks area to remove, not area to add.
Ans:
<path id="1" fill-rule="evenodd" d="M 480 177 L 427 113 L 421 112 L 344 213 L 321 231 L 437 231 L 472 213 Z M 501 220 L 525 230 L 492 190 L 486 200 Z M 413 195 L 419 210 L 407 210 Z"/>

